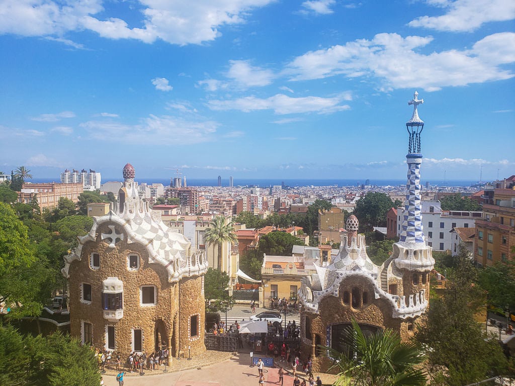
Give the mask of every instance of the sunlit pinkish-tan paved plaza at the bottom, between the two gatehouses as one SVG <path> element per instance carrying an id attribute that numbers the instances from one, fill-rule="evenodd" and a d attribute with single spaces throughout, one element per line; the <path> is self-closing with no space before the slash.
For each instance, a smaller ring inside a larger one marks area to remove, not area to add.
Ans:
<path id="1" fill-rule="evenodd" d="M 216 356 L 217 353 L 207 352 L 207 355 Z M 161 373 L 159 375 L 150 375 L 149 373 L 143 376 L 127 374 L 124 378 L 124 386 L 246 386 L 254 384 L 257 386 L 259 384 L 258 368 L 256 366 L 250 367 L 249 364 L 248 353 L 236 354 L 222 362 L 191 370 Z M 265 367 L 265 385 L 280 385 L 278 383 L 278 371 L 279 367 Z M 302 372 L 297 374 L 303 376 Z M 333 376 L 327 374 L 319 374 L 319 376 L 324 385 L 332 384 L 334 381 Z M 283 385 L 292 386 L 293 379 L 290 373 L 286 373 Z M 114 374 L 104 375 L 104 382 L 106 386 L 118 386 Z"/>

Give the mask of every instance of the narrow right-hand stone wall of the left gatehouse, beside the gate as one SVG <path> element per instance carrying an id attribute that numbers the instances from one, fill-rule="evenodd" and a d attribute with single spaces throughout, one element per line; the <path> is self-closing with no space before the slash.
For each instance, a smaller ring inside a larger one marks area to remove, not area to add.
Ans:
<path id="1" fill-rule="evenodd" d="M 205 351 L 204 319 L 205 300 L 202 293 L 201 277 L 183 278 L 179 282 L 179 346 L 184 357 L 188 356 L 188 346 L 191 346 L 192 357 Z M 197 336 L 190 336 L 190 320 L 192 315 L 198 315 Z"/>

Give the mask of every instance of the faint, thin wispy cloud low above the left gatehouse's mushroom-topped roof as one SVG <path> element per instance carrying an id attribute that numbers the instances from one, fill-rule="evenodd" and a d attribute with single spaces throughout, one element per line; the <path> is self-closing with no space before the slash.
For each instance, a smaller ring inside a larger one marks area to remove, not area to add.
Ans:
<path id="1" fill-rule="evenodd" d="M 138 125 L 92 120 L 80 126 L 94 139 L 116 137 L 131 144 L 197 144 L 212 141 L 219 124 L 215 121 L 188 121 L 168 115 L 150 115 Z"/>

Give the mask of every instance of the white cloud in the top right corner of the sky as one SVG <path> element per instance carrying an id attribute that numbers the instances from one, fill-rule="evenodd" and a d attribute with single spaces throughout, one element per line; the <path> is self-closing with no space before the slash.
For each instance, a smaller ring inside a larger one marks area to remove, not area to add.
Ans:
<path id="1" fill-rule="evenodd" d="M 515 19 L 513 0 L 429 0 L 428 4 L 441 7 L 441 16 L 420 16 L 408 23 L 410 27 L 424 27 L 438 31 L 474 31 L 488 22 Z"/>

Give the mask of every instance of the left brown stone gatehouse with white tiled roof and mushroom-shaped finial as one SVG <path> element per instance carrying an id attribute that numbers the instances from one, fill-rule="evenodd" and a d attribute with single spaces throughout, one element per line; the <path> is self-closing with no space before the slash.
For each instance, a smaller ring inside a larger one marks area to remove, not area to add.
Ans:
<path id="1" fill-rule="evenodd" d="M 132 168 L 132 167 L 130 167 Z M 124 168 L 121 202 L 94 217 L 90 233 L 65 257 L 71 334 L 84 344 L 151 353 L 165 346 L 169 363 L 181 350 L 205 350 L 205 255 L 140 201 L 134 171 Z M 193 318 L 192 318 L 193 317 Z M 191 323 L 196 323 L 196 335 Z"/>

